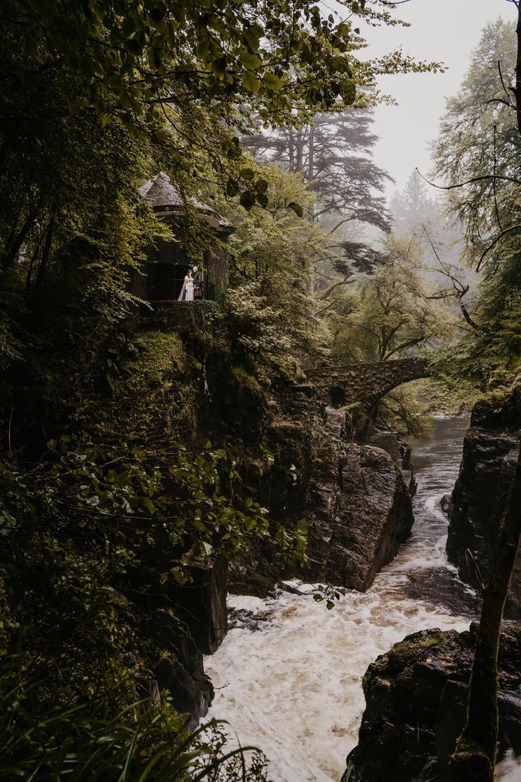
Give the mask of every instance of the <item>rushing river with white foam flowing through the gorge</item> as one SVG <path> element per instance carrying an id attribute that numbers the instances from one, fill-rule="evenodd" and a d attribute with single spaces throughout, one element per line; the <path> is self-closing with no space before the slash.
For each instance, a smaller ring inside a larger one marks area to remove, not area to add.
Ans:
<path id="1" fill-rule="evenodd" d="M 339 782 L 357 743 L 369 663 L 416 630 L 469 626 L 475 597 L 448 565 L 440 507 L 465 429 L 464 419 L 436 418 L 434 438 L 415 443 L 412 536 L 366 594 L 349 592 L 332 611 L 305 585 L 308 594 L 230 597 L 237 627 L 206 660 L 216 687 L 209 716 L 266 753 L 273 782 Z M 515 762 L 502 779 L 521 780 Z"/>

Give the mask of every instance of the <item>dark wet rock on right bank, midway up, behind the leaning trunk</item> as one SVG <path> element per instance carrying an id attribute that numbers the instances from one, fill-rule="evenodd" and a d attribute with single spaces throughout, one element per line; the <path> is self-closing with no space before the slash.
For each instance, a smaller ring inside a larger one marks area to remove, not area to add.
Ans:
<path id="1" fill-rule="evenodd" d="M 448 503 L 448 558 L 457 566 L 460 578 L 473 587 L 478 586 L 476 563 L 481 578 L 487 581 L 516 469 L 518 396 L 512 394 L 498 409 L 487 402 L 474 408 L 463 444 L 459 479 Z M 511 429 L 512 435 L 505 434 L 505 429 L 494 429 L 496 426 Z M 512 576 L 505 616 L 521 618 L 521 558 Z"/>

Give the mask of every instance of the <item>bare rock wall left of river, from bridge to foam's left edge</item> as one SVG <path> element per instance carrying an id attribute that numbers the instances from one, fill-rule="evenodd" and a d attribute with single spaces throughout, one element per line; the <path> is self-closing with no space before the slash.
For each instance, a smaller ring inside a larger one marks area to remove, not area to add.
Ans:
<path id="1" fill-rule="evenodd" d="M 216 393 L 213 400 L 219 400 Z M 251 407 L 258 402 L 250 396 Z M 215 414 L 205 412 L 209 418 Z M 202 661 L 202 653 L 212 653 L 223 640 L 227 580 L 232 590 L 247 594 L 266 594 L 284 576 L 365 591 L 412 527 L 410 450 L 400 448 L 392 433 L 376 434 L 371 444 L 355 443 L 348 414 L 324 407 L 313 389 L 298 386 L 273 399 L 268 411 L 251 410 L 249 431 L 257 425 L 262 438 L 243 461 L 245 490 L 268 508 L 274 524 L 282 522 L 290 533 L 305 518 L 308 563 L 304 568 L 288 565 L 276 543 L 255 543 L 248 558 L 231 561 L 228 568 L 219 561 L 213 571 L 199 571 L 198 589 L 187 590 L 190 604 L 184 606 L 186 597 L 177 595 L 177 617 L 194 644 L 191 652 L 184 648 L 175 702 L 179 708 L 191 707 L 186 710 L 194 720 L 204 716 L 212 691 L 202 667 L 190 673 L 191 660 L 194 649 Z M 188 679 L 183 673 L 179 680 L 182 671 L 189 673 Z M 175 671 L 169 673 L 168 687 L 175 692 Z"/>

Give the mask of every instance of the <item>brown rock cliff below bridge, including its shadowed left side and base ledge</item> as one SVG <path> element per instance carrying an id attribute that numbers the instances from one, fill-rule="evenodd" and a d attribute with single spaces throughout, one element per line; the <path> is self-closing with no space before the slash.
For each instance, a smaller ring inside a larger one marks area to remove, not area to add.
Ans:
<path id="1" fill-rule="evenodd" d="M 410 464 L 401 468 L 409 451 L 402 454 L 390 432 L 377 445 L 352 442 L 348 415 L 324 409 L 310 386 L 292 389 L 277 412 L 265 430 L 273 464 L 258 479 L 258 496 L 288 530 L 305 518 L 309 566 L 288 568 L 277 547 L 262 544 L 252 561 L 233 565 L 232 588 L 266 594 L 291 575 L 365 591 L 412 527 L 414 480 Z"/>

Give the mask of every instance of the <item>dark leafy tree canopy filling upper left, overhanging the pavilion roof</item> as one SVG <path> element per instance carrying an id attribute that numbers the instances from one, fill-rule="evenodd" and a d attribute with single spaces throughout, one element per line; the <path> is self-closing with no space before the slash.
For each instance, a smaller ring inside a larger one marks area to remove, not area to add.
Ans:
<path id="1" fill-rule="evenodd" d="M 283 124 L 317 109 L 342 110 L 356 100 L 355 82 L 376 93 L 382 71 L 429 68 L 398 52 L 359 59 L 365 41 L 355 17 L 394 21 L 380 0 L 349 0 L 348 9 L 344 22 L 312 0 L 215 7 L 7 0 L 0 41 L 5 303 L 33 317 L 64 306 L 124 314 L 132 303 L 128 270 L 164 233 L 136 192 L 150 170 L 172 175 L 192 228 L 190 196 L 204 196 L 209 182 L 237 193 L 247 209 L 263 205 L 265 185 L 241 165 L 239 144 L 259 117 Z M 201 231 L 192 233 L 204 245 Z M 16 345 L 9 331 L 0 340 L 3 362 Z"/>

